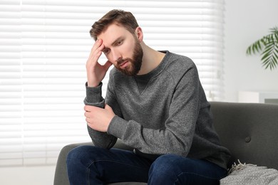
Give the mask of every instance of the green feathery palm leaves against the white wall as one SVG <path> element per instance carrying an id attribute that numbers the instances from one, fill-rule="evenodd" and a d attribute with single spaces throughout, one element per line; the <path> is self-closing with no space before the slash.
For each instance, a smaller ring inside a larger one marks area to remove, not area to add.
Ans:
<path id="1" fill-rule="evenodd" d="M 270 34 L 252 43 L 247 48 L 246 53 L 247 55 L 261 53 L 264 68 L 270 68 L 270 70 L 276 68 L 278 62 L 278 27 L 270 28 Z"/>

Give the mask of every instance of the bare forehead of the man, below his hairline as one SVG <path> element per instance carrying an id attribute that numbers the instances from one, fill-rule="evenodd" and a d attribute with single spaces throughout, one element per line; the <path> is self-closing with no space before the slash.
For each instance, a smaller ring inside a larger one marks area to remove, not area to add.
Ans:
<path id="1" fill-rule="evenodd" d="M 115 39 L 123 36 L 131 35 L 131 33 L 123 26 L 117 25 L 115 23 L 108 26 L 101 34 L 99 34 L 98 39 L 103 40 L 103 43 L 113 43 Z"/>

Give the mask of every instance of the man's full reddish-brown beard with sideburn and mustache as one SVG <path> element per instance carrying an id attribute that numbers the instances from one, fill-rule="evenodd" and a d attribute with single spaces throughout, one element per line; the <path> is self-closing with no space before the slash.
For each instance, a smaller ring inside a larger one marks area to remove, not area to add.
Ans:
<path id="1" fill-rule="evenodd" d="M 135 48 L 133 50 L 133 57 L 118 59 L 115 68 L 120 70 L 120 72 L 124 73 L 125 75 L 129 75 L 129 76 L 137 75 L 142 65 L 142 58 L 143 58 L 143 49 L 140 46 L 139 41 L 136 40 Z M 125 68 L 120 68 L 120 64 L 126 61 L 129 61 L 129 65 L 127 65 Z"/>

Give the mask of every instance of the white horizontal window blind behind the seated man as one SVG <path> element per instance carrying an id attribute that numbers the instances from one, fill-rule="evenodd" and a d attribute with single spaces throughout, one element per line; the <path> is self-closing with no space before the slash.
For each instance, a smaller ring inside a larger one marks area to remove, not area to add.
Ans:
<path id="1" fill-rule="evenodd" d="M 208 99 L 222 99 L 222 0 L 0 0 L 0 166 L 55 164 L 65 144 L 91 140 L 88 31 L 110 9 L 133 12 L 149 46 L 192 58 Z"/>

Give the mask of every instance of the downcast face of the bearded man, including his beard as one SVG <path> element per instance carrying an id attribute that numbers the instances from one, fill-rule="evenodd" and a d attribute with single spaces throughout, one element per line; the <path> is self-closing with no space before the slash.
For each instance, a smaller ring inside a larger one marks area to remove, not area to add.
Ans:
<path id="1" fill-rule="evenodd" d="M 98 36 L 103 40 L 103 53 L 115 68 L 125 75 L 136 75 L 142 65 L 143 49 L 135 34 L 112 24 Z"/>

